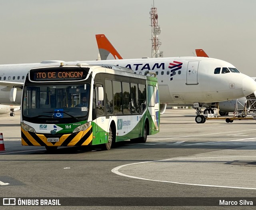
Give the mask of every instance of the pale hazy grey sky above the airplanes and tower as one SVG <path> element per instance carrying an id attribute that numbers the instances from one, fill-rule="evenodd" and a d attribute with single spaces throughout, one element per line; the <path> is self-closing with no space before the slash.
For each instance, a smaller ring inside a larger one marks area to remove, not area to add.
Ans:
<path id="1" fill-rule="evenodd" d="M 95 34 L 124 58 L 151 57 L 153 0 L 0 0 L 0 64 L 98 59 Z M 154 0 L 164 57 L 210 56 L 256 77 L 256 0 Z"/>

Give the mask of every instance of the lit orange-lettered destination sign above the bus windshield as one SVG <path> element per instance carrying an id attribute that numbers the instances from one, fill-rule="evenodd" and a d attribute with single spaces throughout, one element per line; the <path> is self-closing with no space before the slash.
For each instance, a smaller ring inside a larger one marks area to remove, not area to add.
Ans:
<path id="1" fill-rule="evenodd" d="M 87 76 L 89 68 L 80 67 L 49 67 L 30 70 L 31 81 L 74 81 Z"/>

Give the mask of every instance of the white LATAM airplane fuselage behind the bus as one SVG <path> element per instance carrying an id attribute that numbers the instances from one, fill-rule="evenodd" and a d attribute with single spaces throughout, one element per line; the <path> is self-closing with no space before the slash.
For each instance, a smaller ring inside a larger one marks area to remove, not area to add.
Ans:
<path id="1" fill-rule="evenodd" d="M 141 74 L 144 74 L 145 71 L 157 72 L 160 103 L 168 103 L 170 105 L 226 101 L 244 97 L 256 90 L 256 82 L 242 73 L 214 74 L 214 69 L 218 67 L 235 67 L 226 61 L 208 57 L 70 61 L 64 62 L 64 65 L 77 63 L 119 65 L 131 68 L 135 73 Z M 17 91 L 15 102 L 11 102 L 9 97 L 10 89 L 16 82 L 24 83 L 26 74 L 30 69 L 59 64 L 0 65 L 0 85 L 9 86 L 0 86 L 0 104 L 20 105 L 22 91 Z"/>

